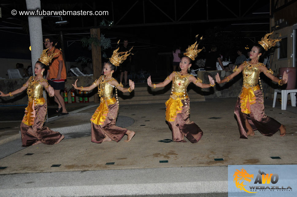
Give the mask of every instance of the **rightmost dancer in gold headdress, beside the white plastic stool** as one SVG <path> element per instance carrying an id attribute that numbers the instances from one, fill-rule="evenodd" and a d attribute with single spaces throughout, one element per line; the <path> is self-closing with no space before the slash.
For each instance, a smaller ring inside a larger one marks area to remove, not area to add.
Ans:
<path id="1" fill-rule="evenodd" d="M 288 80 L 286 72 L 284 72 L 283 79 L 279 80 L 279 78 L 272 75 L 273 72 L 271 69 L 268 70 L 263 63 L 260 63 L 265 57 L 265 52 L 270 47 L 275 46 L 276 42 L 280 41 L 280 39 L 272 40 L 268 38 L 272 33 L 266 34 L 258 44 L 253 46 L 250 52 L 249 58 L 251 60 L 249 62 L 242 63 L 238 68 L 236 66 L 233 73 L 222 81 L 219 74 L 216 75 L 216 81 L 220 84 L 230 81 L 242 71 L 243 86 L 234 111 L 237 117 L 240 138 L 247 139 L 248 135 L 255 134 L 250 124 L 257 127 L 258 131 L 265 136 L 272 136 L 278 130 L 280 130 L 280 136 L 286 134 L 284 125 L 266 116 L 264 112 L 264 97 L 260 89 L 262 85 L 261 83 L 260 86 L 258 85 L 260 72 L 263 72 L 272 81 L 278 82 L 279 85 L 286 84 Z M 248 121 L 247 116 L 251 118 L 251 121 Z"/>

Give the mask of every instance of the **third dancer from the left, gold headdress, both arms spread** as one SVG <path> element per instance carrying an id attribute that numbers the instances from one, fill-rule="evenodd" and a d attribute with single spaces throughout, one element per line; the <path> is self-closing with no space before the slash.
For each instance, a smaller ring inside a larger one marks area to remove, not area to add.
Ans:
<path id="1" fill-rule="evenodd" d="M 198 35 L 197 35 L 198 36 Z M 196 37 L 197 37 L 196 36 Z M 200 38 L 202 39 L 202 37 Z M 190 99 L 187 95 L 187 86 L 193 82 L 200 88 L 213 87 L 214 79 L 208 75 L 210 84 L 203 84 L 201 79 L 188 74 L 192 66 L 192 60 L 195 60 L 197 54 L 202 50 L 197 50 L 198 44 L 189 46 L 179 63 L 180 72 L 172 72 L 165 81 L 158 84 L 152 84 L 151 77 L 148 78 L 148 85 L 154 89 L 164 87 L 172 81 L 172 88 L 169 100 L 166 101 L 166 120 L 172 130 L 172 140 L 175 142 L 186 142 L 184 136 L 192 142 L 198 142 L 203 132 L 193 121 L 189 120 Z"/>

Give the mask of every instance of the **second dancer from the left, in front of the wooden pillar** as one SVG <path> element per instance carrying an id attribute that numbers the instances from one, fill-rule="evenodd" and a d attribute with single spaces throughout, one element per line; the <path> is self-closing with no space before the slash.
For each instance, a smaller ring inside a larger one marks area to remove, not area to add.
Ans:
<path id="1" fill-rule="evenodd" d="M 118 48 L 119 49 L 119 48 Z M 134 131 L 127 130 L 125 128 L 117 127 L 115 125 L 118 116 L 118 93 L 117 89 L 122 92 L 132 92 L 134 89 L 134 83 L 129 79 L 129 88 L 123 88 L 122 83 L 118 83 L 116 79 L 112 77 L 112 74 L 116 71 L 116 66 L 124 61 L 128 55 L 130 55 L 131 49 L 126 52 L 117 52 L 118 49 L 114 50 L 110 61 L 105 63 L 104 75 L 100 76 L 94 83 L 88 87 L 77 87 L 75 81 L 73 87 L 78 90 L 90 91 L 98 86 L 98 94 L 101 97 L 100 105 L 96 109 L 95 113 L 91 118 L 91 142 L 102 143 L 105 141 L 114 140 L 119 142 L 122 137 L 127 134 L 127 139 L 125 142 L 129 142 L 135 135 Z M 122 55 L 124 54 L 124 55 Z M 113 89 L 116 87 L 116 98 L 113 96 Z"/>

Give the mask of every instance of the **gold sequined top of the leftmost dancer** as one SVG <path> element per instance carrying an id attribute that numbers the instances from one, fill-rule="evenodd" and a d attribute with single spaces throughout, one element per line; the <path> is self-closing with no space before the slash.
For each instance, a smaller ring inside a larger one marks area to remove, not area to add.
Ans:
<path id="1" fill-rule="evenodd" d="M 28 100 L 42 98 L 43 97 L 43 86 L 39 82 L 46 81 L 46 79 L 38 79 L 34 81 L 34 77 L 29 78 L 29 84 L 27 88 Z"/>

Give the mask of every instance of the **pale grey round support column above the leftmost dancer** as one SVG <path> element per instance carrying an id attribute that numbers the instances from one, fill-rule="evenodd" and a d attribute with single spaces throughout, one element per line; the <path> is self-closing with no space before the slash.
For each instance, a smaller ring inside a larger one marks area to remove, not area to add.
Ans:
<path id="1" fill-rule="evenodd" d="M 26 0 L 26 5 L 27 10 L 41 10 L 39 0 Z M 33 75 L 35 63 L 37 62 L 38 58 L 40 58 L 43 50 L 41 18 L 42 16 L 28 16 Z"/>

